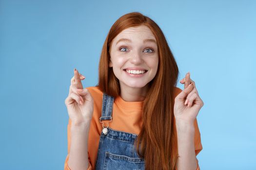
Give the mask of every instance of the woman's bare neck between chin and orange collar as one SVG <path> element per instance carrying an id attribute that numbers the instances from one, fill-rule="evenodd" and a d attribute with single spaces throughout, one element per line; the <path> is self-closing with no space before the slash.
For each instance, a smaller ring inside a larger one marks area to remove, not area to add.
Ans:
<path id="1" fill-rule="evenodd" d="M 120 85 L 120 96 L 126 102 L 142 102 L 145 100 L 148 85 L 144 87 L 127 87 Z"/>

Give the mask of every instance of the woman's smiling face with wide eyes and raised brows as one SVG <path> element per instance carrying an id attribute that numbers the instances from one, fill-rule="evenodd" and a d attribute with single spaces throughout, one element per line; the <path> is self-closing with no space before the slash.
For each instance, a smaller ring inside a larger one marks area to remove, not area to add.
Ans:
<path id="1" fill-rule="evenodd" d="M 158 70 L 158 46 L 151 30 L 141 25 L 119 33 L 110 47 L 113 67 L 121 87 L 142 88 Z"/>

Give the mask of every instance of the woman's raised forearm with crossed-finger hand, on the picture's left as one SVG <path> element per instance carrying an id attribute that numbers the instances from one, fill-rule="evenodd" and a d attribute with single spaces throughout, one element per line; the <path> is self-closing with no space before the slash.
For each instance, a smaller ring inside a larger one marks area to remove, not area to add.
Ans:
<path id="1" fill-rule="evenodd" d="M 74 68 L 68 97 L 65 99 L 69 115 L 68 155 L 64 170 L 86 170 L 89 166 L 88 136 L 94 111 L 94 100 L 81 80 L 85 77 Z M 72 120 L 72 121 L 71 121 Z"/>

